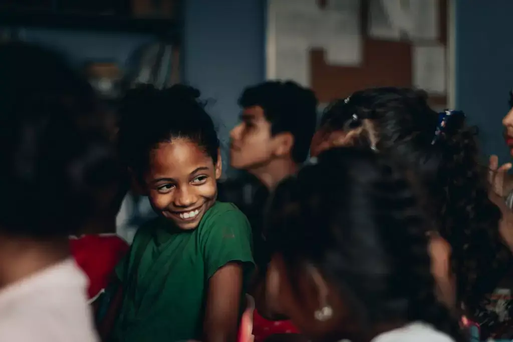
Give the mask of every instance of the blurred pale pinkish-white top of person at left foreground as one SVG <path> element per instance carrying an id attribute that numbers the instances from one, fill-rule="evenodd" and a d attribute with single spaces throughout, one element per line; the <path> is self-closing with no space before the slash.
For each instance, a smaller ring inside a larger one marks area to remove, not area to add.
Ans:
<path id="1" fill-rule="evenodd" d="M 87 286 L 69 258 L 0 290 L 0 341 L 97 342 Z"/>

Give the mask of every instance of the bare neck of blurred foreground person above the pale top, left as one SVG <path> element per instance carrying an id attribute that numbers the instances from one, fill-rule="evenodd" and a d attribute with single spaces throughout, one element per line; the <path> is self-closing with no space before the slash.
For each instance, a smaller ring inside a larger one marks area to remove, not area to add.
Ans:
<path id="1" fill-rule="evenodd" d="M 0 236 L 0 289 L 65 260 L 69 253 L 67 237 Z"/>

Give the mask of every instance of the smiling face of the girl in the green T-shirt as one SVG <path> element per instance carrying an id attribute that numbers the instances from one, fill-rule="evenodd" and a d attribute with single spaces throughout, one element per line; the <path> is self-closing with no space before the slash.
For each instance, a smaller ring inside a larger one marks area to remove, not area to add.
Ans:
<path id="1" fill-rule="evenodd" d="M 198 144 L 175 138 L 152 151 L 144 180 L 153 209 L 180 229 L 189 230 L 198 227 L 215 203 L 220 177 L 220 155 L 214 165 Z"/>

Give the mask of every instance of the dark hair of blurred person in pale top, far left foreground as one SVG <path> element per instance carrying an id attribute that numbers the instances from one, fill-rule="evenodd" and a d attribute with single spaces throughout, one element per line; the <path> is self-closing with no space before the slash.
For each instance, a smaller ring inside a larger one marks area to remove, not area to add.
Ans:
<path id="1" fill-rule="evenodd" d="M 87 81 L 58 54 L 0 45 L 0 231 L 74 232 L 117 171 Z"/>

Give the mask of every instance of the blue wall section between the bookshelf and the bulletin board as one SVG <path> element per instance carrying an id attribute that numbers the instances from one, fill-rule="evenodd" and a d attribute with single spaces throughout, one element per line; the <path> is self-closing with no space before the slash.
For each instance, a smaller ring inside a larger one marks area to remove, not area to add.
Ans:
<path id="1" fill-rule="evenodd" d="M 238 120 L 238 97 L 244 87 L 265 78 L 264 4 L 262 0 L 185 1 L 185 80 L 213 99 L 209 112 L 225 148 L 229 130 Z M 226 155 L 223 158 L 227 160 Z"/>

